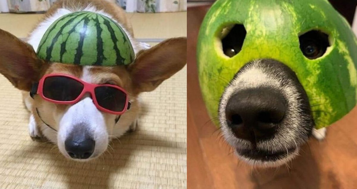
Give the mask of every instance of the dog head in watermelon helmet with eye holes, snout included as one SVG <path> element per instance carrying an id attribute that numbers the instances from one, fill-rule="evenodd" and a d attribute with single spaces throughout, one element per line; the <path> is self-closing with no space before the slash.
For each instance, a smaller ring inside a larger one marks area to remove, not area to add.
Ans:
<path id="1" fill-rule="evenodd" d="M 208 113 L 248 163 L 286 163 L 355 107 L 356 44 L 328 1 L 217 0 L 197 43 Z"/>

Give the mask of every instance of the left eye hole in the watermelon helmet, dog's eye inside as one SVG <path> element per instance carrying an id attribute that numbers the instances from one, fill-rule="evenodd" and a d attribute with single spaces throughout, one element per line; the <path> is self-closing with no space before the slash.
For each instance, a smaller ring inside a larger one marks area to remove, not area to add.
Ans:
<path id="1" fill-rule="evenodd" d="M 242 50 L 247 31 L 242 24 L 226 27 L 222 31 L 222 49 L 228 57 L 233 57 Z"/>

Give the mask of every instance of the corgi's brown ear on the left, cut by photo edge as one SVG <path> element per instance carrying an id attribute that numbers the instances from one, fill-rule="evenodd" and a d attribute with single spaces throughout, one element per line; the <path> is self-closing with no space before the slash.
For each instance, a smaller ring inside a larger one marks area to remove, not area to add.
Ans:
<path id="1" fill-rule="evenodd" d="M 0 29 L 0 73 L 16 88 L 30 91 L 48 65 L 30 44 Z"/>

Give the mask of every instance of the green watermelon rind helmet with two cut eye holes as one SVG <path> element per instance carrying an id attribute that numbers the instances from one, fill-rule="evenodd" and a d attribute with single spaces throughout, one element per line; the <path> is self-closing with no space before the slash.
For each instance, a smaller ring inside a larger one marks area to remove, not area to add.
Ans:
<path id="1" fill-rule="evenodd" d="M 233 24 L 243 24 L 247 35 L 242 50 L 229 58 L 220 48 L 220 34 Z M 314 60 L 299 48 L 298 36 L 310 30 L 327 33 L 331 43 Z M 246 63 L 264 58 L 283 62 L 296 73 L 309 97 L 316 128 L 331 125 L 355 107 L 357 40 L 327 0 L 218 0 L 212 5 L 197 44 L 200 87 L 211 118 L 218 116 L 228 81 Z"/>

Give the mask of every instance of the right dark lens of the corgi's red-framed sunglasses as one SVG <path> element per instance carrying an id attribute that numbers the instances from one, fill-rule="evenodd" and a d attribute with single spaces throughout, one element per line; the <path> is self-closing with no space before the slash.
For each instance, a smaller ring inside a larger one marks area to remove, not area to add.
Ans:
<path id="1" fill-rule="evenodd" d="M 94 89 L 98 104 L 110 111 L 121 112 L 125 108 L 126 94 L 114 87 L 98 86 Z"/>

